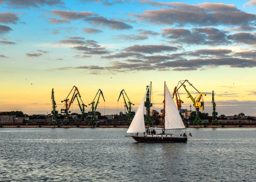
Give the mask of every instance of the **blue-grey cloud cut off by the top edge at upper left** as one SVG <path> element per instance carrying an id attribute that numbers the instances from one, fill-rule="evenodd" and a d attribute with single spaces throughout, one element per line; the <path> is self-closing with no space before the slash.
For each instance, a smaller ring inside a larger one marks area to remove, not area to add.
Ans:
<path id="1" fill-rule="evenodd" d="M 3 0 L 7 5 L 15 8 L 39 7 L 43 5 L 64 5 L 61 0 Z"/>

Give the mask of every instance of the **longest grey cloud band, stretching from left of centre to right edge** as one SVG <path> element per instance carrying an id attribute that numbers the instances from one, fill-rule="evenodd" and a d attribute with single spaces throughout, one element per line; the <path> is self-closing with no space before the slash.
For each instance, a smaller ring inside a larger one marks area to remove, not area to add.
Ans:
<path id="1" fill-rule="evenodd" d="M 161 70 L 161 71 L 193 71 L 205 69 L 212 66 L 229 66 L 229 67 L 256 67 L 256 60 L 247 60 L 239 58 L 215 58 L 215 59 L 191 59 L 176 60 L 168 62 L 152 63 L 143 60 L 125 60 L 124 62 L 113 61 L 109 66 L 100 67 L 97 65 L 74 67 L 84 70 L 104 70 L 106 72 L 132 72 L 134 70 Z"/>

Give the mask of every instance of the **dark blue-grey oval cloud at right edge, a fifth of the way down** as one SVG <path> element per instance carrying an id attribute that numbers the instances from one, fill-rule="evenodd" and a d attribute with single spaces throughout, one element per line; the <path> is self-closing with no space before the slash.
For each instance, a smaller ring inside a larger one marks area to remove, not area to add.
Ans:
<path id="1" fill-rule="evenodd" d="M 228 35 L 228 39 L 234 42 L 240 42 L 245 44 L 256 44 L 256 35 L 246 32 L 240 32 L 233 35 Z"/>

